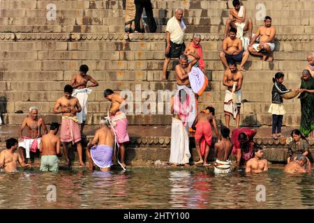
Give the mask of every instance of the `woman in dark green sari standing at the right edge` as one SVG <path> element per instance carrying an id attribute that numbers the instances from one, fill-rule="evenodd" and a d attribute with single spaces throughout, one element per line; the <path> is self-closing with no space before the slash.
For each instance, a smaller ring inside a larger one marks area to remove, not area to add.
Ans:
<path id="1" fill-rule="evenodd" d="M 300 130 L 303 134 L 314 137 L 314 78 L 310 71 L 303 70 L 302 82 L 299 91 L 301 101 L 301 126 Z"/>

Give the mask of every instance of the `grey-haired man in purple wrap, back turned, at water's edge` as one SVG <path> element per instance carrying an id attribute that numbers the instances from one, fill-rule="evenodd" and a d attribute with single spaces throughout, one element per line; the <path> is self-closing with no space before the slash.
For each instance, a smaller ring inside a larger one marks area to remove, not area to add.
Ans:
<path id="1" fill-rule="evenodd" d="M 101 171 L 110 171 L 114 146 L 114 133 L 107 120 L 100 120 L 100 128 L 96 130 L 94 139 L 87 145 L 89 169 L 93 169 L 93 161 Z"/>

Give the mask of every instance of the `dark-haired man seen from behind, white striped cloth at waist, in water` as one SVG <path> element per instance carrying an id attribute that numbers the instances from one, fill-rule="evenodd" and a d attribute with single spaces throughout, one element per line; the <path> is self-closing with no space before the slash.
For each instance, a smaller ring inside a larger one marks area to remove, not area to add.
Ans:
<path id="1" fill-rule="evenodd" d="M 220 133 L 220 141 L 216 142 L 214 146 L 214 158 L 216 159 L 214 173 L 227 174 L 231 171 L 231 162 L 229 160 L 232 151 L 232 143 L 229 137 L 230 129 L 223 126 L 220 129 Z"/>

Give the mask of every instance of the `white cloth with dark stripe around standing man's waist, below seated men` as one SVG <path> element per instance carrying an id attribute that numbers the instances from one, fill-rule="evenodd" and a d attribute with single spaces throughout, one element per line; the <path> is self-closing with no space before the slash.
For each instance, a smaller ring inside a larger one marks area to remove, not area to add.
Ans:
<path id="1" fill-rule="evenodd" d="M 225 91 L 225 100 L 223 101 L 223 111 L 225 114 L 237 117 L 239 109 L 241 108 L 241 89 L 232 93 L 229 90 Z"/>

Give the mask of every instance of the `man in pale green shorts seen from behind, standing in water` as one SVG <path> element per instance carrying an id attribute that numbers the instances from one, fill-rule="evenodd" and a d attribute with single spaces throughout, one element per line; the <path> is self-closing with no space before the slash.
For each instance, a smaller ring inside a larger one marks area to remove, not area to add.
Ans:
<path id="1" fill-rule="evenodd" d="M 57 137 L 59 130 L 59 123 L 51 123 L 50 131 L 44 134 L 41 139 L 39 151 L 40 158 L 40 171 L 58 171 L 58 155 L 61 155 L 61 141 Z"/>

